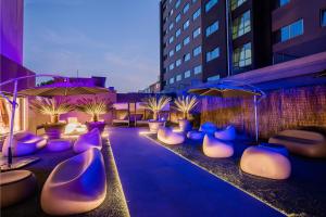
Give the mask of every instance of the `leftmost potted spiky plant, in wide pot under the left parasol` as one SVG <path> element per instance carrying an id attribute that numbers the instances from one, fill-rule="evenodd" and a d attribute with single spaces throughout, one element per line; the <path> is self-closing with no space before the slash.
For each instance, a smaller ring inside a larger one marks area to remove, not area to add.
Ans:
<path id="1" fill-rule="evenodd" d="M 29 101 L 29 105 L 41 114 L 50 115 L 51 122 L 43 125 L 46 135 L 49 139 L 59 139 L 65 127 L 65 123 L 59 122 L 60 115 L 74 108 L 70 101 L 65 98 L 36 98 Z"/>

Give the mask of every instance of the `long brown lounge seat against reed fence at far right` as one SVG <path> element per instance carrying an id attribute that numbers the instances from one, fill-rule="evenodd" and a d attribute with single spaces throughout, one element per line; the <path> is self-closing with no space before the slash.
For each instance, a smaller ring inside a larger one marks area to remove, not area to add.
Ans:
<path id="1" fill-rule="evenodd" d="M 309 157 L 326 157 L 326 137 L 306 130 L 284 130 L 269 138 L 269 143 L 286 146 L 289 152 Z"/>

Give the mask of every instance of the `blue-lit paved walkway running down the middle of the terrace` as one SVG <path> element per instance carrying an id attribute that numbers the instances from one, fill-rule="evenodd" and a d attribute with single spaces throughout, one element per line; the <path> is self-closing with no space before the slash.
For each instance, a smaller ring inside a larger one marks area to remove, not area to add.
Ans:
<path id="1" fill-rule="evenodd" d="M 139 130 L 110 129 L 110 141 L 131 217 L 284 216 L 139 136 Z"/>

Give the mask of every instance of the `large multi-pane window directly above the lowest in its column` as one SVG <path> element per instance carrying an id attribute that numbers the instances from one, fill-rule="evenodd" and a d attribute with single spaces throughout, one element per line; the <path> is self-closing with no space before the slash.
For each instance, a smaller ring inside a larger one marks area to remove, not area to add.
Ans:
<path id="1" fill-rule="evenodd" d="M 234 20 L 233 38 L 238 38 L 251 30 L 250 25 L 250 11 L 244 12 L 242 15 Z"/>

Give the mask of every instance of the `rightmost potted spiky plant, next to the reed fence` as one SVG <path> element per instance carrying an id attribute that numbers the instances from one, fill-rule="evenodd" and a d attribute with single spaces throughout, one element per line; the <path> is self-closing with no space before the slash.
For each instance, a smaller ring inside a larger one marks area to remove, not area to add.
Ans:
<path id="1" fill-rule="evenodd" d="M 183 113 L 183 119 L 178 120 L 180 130 L 184 132 L 191 130 L 191 125 L 189 122 L 189 113 L 198 104 L 197 98 L 190 95 L 187 97 L 183 95 L 180 98 L 177 98 L 174 101 L 174 103 L 176 110 Z"/>

